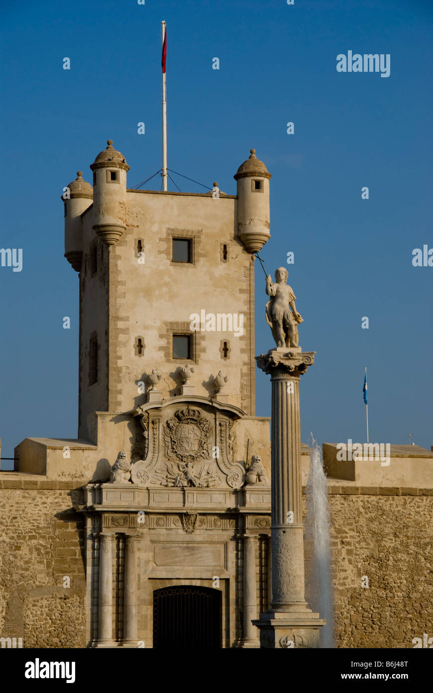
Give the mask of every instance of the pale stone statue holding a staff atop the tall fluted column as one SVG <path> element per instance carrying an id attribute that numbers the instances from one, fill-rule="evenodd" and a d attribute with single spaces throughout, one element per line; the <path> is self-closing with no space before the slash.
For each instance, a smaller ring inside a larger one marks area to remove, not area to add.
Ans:
<path id="1" fill-rule="evenodd" d="M 295 294 L 286 284 L 288 272 L 285 267 L 275 270 L 275 283 L 270 274 L 266 277 L 266 293 L 270 301 L 266 304 L 266 322 L 270 326 L 277 347 L 297 347 L 297 326 L 304 322 L 295 306 Z M 292 310 L 289 310 L 289 306 Z"/>

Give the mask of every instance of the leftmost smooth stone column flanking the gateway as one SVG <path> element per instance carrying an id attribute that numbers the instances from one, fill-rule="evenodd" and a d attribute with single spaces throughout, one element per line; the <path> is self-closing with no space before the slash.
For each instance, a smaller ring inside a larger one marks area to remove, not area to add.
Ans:
<path id="1" fill-rule="evenodd" d="M 113 647 L 113 534 L 100 534 L 98 647 Z"/>

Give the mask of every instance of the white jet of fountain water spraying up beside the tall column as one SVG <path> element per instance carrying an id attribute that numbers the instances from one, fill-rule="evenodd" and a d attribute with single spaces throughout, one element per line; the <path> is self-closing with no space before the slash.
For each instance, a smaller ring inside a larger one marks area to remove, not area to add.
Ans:
<path id="1" fill-rule="evenodd" d="M 310 472 L 306 485 L 305 538 L 311 546 L 311 561 L 307 564 L 307 598 L 313 611 L 326 618 L 326 626 L 320 629 L 320 647 L 333 644 L 333 588 L 331 577 L 331 542 L 329 538 L 329 509 L 326 497 L 326 475 L 322 455 L 313 438 Z"/>

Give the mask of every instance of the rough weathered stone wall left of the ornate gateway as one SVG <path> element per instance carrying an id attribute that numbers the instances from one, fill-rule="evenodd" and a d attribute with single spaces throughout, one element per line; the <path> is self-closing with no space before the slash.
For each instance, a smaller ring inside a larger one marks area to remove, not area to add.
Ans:
<path id="1" fill-rule="evenodd" d="M 81 499 L 71 482 L 0 478 L 0 637 L 85 647 Z"/>

